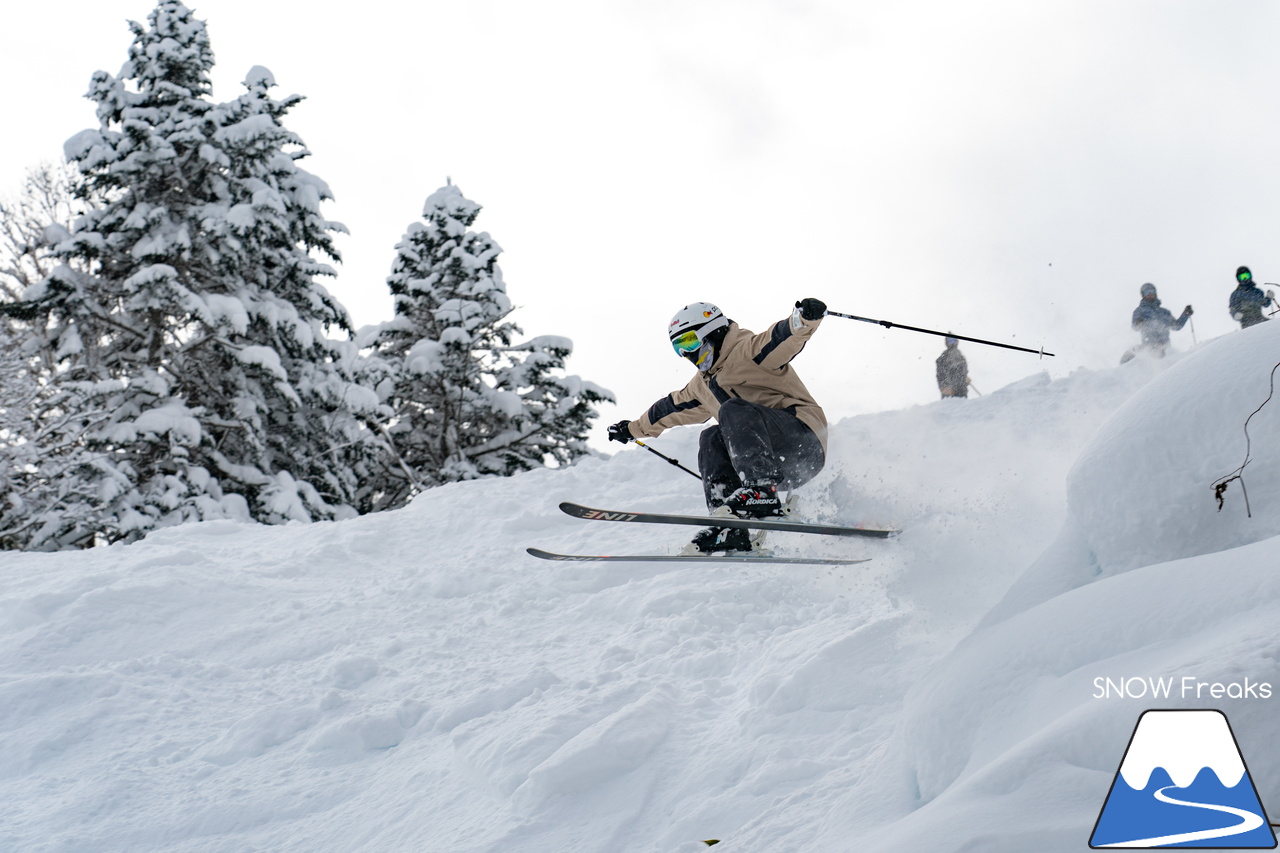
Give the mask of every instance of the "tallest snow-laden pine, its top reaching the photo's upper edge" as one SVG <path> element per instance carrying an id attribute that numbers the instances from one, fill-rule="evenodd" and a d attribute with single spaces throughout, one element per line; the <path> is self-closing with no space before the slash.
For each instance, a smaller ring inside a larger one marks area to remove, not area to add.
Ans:
<path id="1" fill-rule="evenodd" d="M 33 547 L 132 539 L 186 520 L 247 516 L 192 457 L 207 443 L 182 392 L 189 319 L 209 280 L 201 220 L 225 190 L 209 100 L 212 51 L 204 22 L 163 0 L 118 76 L 96 72 L 100 127 L 65 145 L 87 213 L 55 247 L 64 261 L 26 298 L 47 318 L 58 382 L 109 412 L 83 435 L 95 465 L 77 473 L 99 496 Z M 74 491 L 82 491 L 76 485 Z"/>

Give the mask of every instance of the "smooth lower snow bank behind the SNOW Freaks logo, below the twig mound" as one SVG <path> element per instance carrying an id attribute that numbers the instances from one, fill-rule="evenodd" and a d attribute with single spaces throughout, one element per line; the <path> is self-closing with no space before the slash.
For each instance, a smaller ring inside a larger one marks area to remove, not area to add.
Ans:
<path id="1" fill-rule="evenodd" d="M 1274 808 L 1276 566 L 1271 538 L 1101 579 L 977 631 L 906 697 L 873 775 L 913 792 L 910 813 L 861 849 L 1084 849 L 1149 707 L 1224 710 Z"/>

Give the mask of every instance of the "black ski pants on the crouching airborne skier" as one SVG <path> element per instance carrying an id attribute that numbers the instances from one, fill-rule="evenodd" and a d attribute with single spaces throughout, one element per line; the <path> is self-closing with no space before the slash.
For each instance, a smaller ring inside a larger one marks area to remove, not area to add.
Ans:
<path id="1" fill-rule="evenodd" d="M 822 442 L 788 409 L 733 397 L 721 405 L 719 424 L 703 430 L 698 467 L 707 506 L 718 507 L 744 483 L 771 482 L 795 489 L 827 461 Z"/>

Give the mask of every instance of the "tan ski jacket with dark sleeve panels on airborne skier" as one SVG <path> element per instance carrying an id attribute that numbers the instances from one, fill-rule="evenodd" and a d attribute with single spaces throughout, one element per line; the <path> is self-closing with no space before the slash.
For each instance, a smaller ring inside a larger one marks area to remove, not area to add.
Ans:
<path id="1" fill-rule="evenodd" d="M 769 409 L 790 409 L 826 451 L 827 415 L 790 364 L 820 323 L 822 319 L 805 320 L 796 313 L 759 334 L 730 323 L 710 370 L 698 373 L 687 386 L 649 406 L 649 411 L 631 421 L 631 435 L 653 438 L 671 426 L 705 423 L 719 414 L 722 402 L 741 397 Z"/>

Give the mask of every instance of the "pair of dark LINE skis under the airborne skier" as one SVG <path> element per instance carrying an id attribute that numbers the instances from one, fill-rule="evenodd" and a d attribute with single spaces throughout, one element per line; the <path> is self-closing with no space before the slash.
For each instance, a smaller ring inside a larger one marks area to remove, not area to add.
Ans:
<path id="1" fill-rule="evenodd" d="M 709 525 L 719 528 L 745 528 L 750 530 L 773 530 L 778 533 L 817 533 L 833 537 L 870 537 L 886 539 L 901 533 L 900 530 L 879 528 L 846 528 L 829 524 L 808 524 L 804 521 L 790 521 L 786 519 L 737 519 L 732 516 L 705 516 L 705 515 L 668 515 L 662 512 L 620 512 L 612 510 L 595 510 L 581 503 L 568 501 L 559 505 L 561 510 L 575 519 L 590 521 L 630 521 L 636 524 L 680 524 L 696 528 Z M 596 561 L 625 561 L 625 562 L 785 562 L 808 564 L 819 566 L 847 566 L 867 560 L 845 560 L 841 557 L 774 557 L 767 555 L 751 555 L 751 552 L 733 552 L 723 555 L 571 555 L 553 553 L 541 548 L 526 548 L 526 551 L 540 560 L 568 560 L 580 562 Z"/>

